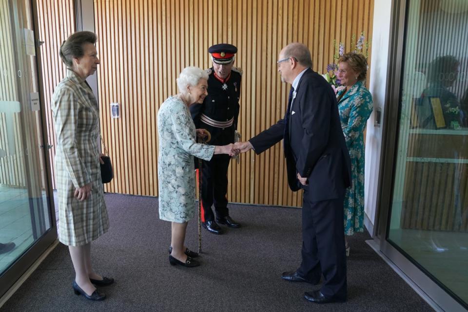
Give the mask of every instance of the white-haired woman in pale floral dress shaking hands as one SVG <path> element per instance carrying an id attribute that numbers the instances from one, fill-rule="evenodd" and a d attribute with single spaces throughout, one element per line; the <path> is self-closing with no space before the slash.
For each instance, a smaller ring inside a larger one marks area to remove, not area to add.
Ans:
<path id="1" fill-rule="evenodd" d="M 214 154 L 237 154 L 234 144 L 211 146 L 198 144 L 195 135 L 205 136 L 204 129 L 195 129 L 189 106 L 202 103 L 208 95 L 208 73 L 187 67 L 177 78 L 179 94 L 170 96 L 157 112 L 159 153 L 157 177 L 159 185 L 159 218 L 172 222 L 169 262 L 186 267 L 198 266 L 198 254 L 185 245 L 187 222 L 195 216 L 194 156 L 210 160 Z"/>

